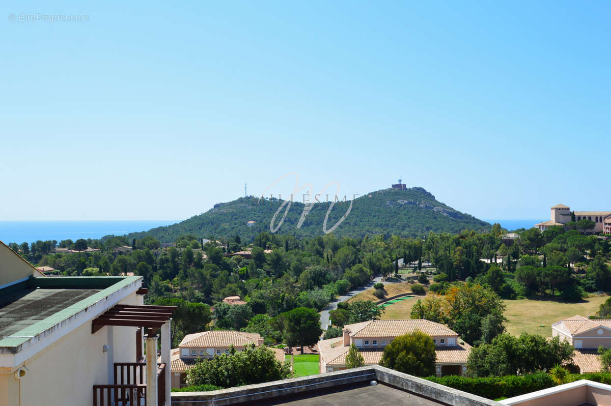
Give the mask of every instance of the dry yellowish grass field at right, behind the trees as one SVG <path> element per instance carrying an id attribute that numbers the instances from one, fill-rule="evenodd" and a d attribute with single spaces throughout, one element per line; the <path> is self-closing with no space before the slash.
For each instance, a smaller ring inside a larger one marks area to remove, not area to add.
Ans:
<path id="1" fill-rule="evenodd" d="M 588 317 L 588 314 L 595 314 L 598 307 L 607 299 L 609 299 L 608 295 L 588 297 L 578 303 L 563 303 L 546 299 L 503 300 L 507 306 L 505 317 L 508 319 L 505 327 L 507 332 L 513 335 L 531 333 L 551 337 L 552 323 L 576 314 L 584 317 Z M 541 327 L 542 324 L 543 327 Z"/>

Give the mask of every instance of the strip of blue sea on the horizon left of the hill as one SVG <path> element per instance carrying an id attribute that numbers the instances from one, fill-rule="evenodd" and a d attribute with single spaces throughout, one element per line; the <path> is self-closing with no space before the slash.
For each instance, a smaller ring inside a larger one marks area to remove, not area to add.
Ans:
<path id="1" fill-rule="evenodd" d="M 178 223 L 180 220 L 109 220 L 109 221 L 0 221 L 0 241 L 5 244 L 79 238 L 101 238 L 114 234 L 148 231 Z"/>

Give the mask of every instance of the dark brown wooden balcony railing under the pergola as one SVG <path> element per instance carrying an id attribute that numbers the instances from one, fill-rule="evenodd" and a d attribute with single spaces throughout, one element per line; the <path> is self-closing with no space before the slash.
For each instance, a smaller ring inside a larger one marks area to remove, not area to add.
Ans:
<path id="1" fill-rule="evenodd" d="M 93 385 L 93 406 L 147 406 L 144 362 L 115 362 L 114 385 Z M 157 406 L 166 403 L 166 364 L 157 364 Z"/>

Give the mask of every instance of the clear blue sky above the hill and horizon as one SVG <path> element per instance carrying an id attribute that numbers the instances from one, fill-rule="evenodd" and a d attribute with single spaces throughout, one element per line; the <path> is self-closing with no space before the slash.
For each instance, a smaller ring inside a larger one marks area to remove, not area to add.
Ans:
<path id="1" fill-rule="evenodd" d="M 0 220 L 182 219 L 290 172 L 611 209 L 609 1 L 54 3 L 0 5 Z"/>

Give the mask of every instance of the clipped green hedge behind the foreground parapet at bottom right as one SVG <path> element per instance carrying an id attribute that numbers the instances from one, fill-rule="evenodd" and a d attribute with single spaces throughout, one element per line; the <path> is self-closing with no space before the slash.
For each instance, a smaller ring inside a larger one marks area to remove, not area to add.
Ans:
<path id="1" fill-rule="evenodd" d="M 450 386 L 450 388 L 486 397 L 487 399 L 519 396 L 556 386 L 550 375 L 544 372 L 486 378 L 467 378 L 458 375 L 448 375 L 441 378 L 428 377 L 426 379 L 441 385 Z M 569 374 L 566 382 L 574 382 L 580 379 L 611 384 L 611 373 Z"/>

